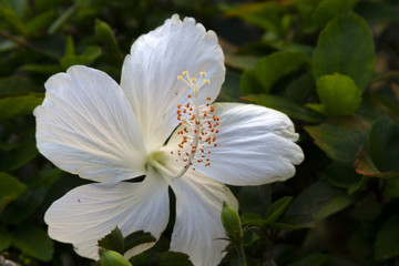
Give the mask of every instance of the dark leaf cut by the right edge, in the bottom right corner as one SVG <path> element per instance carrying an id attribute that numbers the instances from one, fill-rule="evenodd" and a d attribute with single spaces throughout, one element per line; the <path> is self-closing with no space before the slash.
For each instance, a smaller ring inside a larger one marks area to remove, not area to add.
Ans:
<path id="1" fill-rule="evenodd" d="M 377 233 L 375 249 L 379 259 L 399 256 L 399 214 L 382 224 Z"/>

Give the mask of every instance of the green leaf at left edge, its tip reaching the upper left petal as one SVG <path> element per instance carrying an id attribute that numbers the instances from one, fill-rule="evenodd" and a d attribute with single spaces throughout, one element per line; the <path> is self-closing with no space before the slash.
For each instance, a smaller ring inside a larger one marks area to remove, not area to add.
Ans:
<path id="1" fill-rule="evenodd" d="M 43 101 L 42 93 L 30 93 L 24 96 L 0 99 L 0 121 L 19 115 L 32 114 L 35 106 Z"/>

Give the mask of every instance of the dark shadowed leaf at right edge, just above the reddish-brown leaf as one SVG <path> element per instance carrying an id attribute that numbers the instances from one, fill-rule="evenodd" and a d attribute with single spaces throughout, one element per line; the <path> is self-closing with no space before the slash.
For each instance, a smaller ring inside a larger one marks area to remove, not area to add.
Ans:
<path id="1" fill-rule="evenodd" d="M 372 162 L 381 172 L 399 172 L 399 124 L 387 115 L 371 125 L 369 151 Z"/>

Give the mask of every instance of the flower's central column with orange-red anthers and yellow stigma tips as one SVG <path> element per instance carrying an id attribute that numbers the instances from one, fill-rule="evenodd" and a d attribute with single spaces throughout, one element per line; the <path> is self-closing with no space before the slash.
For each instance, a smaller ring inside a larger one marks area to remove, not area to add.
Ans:
<path id="1" fill-rule="evenodd" d="M 200 89 L 209 83 L 205 78 L 206 73 L 201 72 L 198 78 L 191 78 L 187 71 L 177 79 L 186 83 L 192 90 L 192 94 L 187 94 L 187 103 L 177 105 L 177 120 L 180 127 L 177 134 L 182 136 L 182 142 L 176 147 L 176 162 L 184 166 L 177 176 L 182 176 L 191 165 L 202 164 L 209 166 L 211 154 L 209 146 L 216 146 L 216 134 L 218 133 L 219 119 L 213 114 L 214 106 L 211 105 L 211 98 L 206 98 L 206 102 L 200 105 Z M 195 167 L 193 167 L 195 171 Z"/>

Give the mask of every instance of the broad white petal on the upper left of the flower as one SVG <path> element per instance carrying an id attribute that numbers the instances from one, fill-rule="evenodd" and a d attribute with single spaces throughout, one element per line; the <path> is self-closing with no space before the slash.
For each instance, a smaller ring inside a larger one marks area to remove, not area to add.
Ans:
<path id="1" fill-rule="evenodd" d="M 145 149 L 122 89 L 104 72 L 75 65 L 45 82 L 34 110 L 39 151 L 58 167 L 100 182 L 144 172 Z"/>

